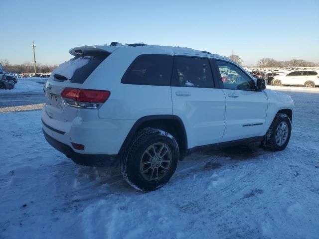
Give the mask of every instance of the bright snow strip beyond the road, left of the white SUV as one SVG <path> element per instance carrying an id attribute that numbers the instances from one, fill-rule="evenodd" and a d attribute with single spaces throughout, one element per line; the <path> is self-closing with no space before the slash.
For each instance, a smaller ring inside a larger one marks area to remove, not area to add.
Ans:
<path id="1" fill-rule="evenodd" d="M 16 92 L 30 92 L 30 91 L 43 91 L 43 85 L 49 78 L 29 77 L 18 78 L 18 83 L 14 85 L 11 90 L 0 90 L 2 93 L 16 93 Z"/>

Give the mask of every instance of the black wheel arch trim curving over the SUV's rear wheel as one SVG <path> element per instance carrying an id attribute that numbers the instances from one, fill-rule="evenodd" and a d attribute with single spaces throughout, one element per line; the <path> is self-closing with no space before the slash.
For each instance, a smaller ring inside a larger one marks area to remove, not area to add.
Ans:
<path id="1" fill-rule="evenodd" d="M 134 135 L 139 130 L 146 127 L 159 128 L 170 133 L 178 143 L 180 155 L 179 159 L 181 160 L 186 155 L 188 143 L 185 126 L 182 120 L 179 117 L 173 115 L 152 115 L 142 117 L 134 123 L 120 148 L 120 151 L 118 153 L 119 157 L 122 157 L 124 155 Z"/>

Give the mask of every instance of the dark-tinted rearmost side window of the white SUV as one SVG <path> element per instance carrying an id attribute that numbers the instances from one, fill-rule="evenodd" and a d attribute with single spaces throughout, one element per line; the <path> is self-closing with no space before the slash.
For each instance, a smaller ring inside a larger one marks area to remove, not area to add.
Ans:
<path id="1" fill-rule="evenodd" d="M 140 55 L 122 78 L 124 84 L 169 86 L 173 57 L 170 55 Z"/>

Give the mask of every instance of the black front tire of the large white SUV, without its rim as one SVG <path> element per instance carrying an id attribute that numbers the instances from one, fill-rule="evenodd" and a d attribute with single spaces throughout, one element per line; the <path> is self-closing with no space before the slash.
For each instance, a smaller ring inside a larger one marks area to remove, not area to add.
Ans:
<path id="1" fill-rule="evenodd" d="M 276 134 L 281 133 L 280 129 L 277 131 L 277 128 L 281 123 L 286 123 L 288 126 L 288 134 L 287 134 L 287 139 L 283 144 L 280 144 L 276 140 Z M 270 151 L 281 151 L 284 150 L 289 142 L 291 136 L 291 121 L 289 117 L 286 114 L 279 113 L 276 115 L 274 121 L 270 125 L 264 141 L 263 141 L 263 146 L 265 149 L 270 150 Z"/>

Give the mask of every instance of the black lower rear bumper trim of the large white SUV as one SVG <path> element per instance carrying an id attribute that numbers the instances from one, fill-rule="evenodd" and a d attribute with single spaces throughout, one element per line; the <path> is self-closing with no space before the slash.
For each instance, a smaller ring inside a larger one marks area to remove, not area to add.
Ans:
<path id="1" fill-rule="evenodd" d="M 52 138 L 48 135 L 43 129 L 43 134 L 46 141 L 51 144 L 52 147 L 65 154 L 68 158 L 71 158 L 75 163 L 86 165 L 86 166 L 95 166 L 95 167 L 112 167 L 119 164 L 117 155 L 110 154 L 81 154 L 74 152 L 73 149 L 64 143 L 59 142 L 58 140 Z"/>

